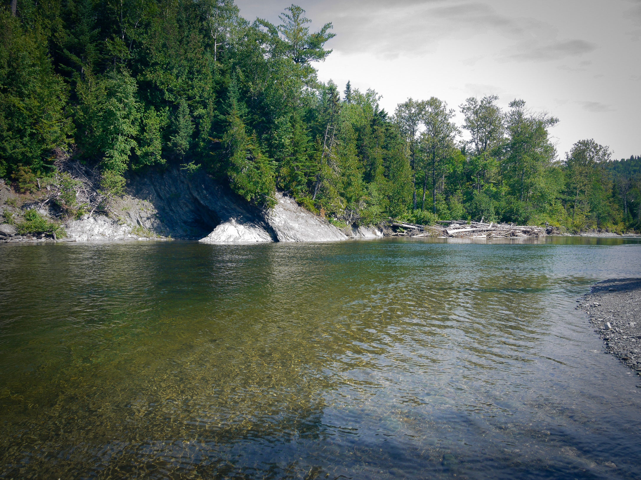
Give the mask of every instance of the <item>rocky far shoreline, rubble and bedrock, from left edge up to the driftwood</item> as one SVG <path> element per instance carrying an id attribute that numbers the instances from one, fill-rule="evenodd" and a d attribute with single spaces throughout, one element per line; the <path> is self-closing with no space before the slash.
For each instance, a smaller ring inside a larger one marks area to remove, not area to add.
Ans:
<path id="1" fill-rule="evenodd" d="M 61 164 L 61 168 L 74 172 L 77 186 L 83 188 L 81 193 L 88 191 L 92 198 L 97 196 L 96 172 L 77 162 Z M 275 207 L 262 209 L 210 175 L 189 175 L 174 167 L 132 174 L 125 195 L 102 206 L 96 204 L 88 214 L 81 212 L 70 218 L 68 212 L 65 215 L 56 207 L 59 202 L 55 189 L 18 194 L 0 180 L 0 214 L 4 218 L 19 219 L 28 210 L 36 211 L 47 221 L 62 224 L 59 233 L 65 234 L 57 239 L 53 234 L 20 235 L 19 229 L 3 223 L 0 243 L 167 239 L 201 243 L 318 242 L 383 236 L 383 229 L 374 226 L 337 227 L 307 211 L 287 194 L 276 192 L 275 196 Z"/>

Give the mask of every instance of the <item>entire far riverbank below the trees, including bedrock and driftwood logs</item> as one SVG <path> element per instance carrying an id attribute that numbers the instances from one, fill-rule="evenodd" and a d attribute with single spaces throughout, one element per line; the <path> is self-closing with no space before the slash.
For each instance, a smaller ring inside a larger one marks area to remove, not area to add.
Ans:
<path id="1" fill-rule="evenodd" d="M 447 225 L 429 226 L 390 218 L 367 227 L 347 225 L 316 215 L 279 191 L 274 194 L 276 205 L 272 209 L 262 209 L 249 204 L 210 175 L 190 174 L 176 166 L 131 173 L 125 194 L 107 198 L 99 189 L 100 175 L 95 168 L 67 158 L 61 159 L 57 166 L 72 179 L 73 195 L 65 190 L 60 179 L 43 183 L 31 193 L 18 193 L 0 180 L 0 215 L 4 219 L 0 221 L 7 222 L 0 225 L 0 243 L 167 239 L 190 239 L 201 243 L 269 243 L 383 236 L 473 239 L 567 236 L 557 227 L 474 221 L 468 225 L 467 220 L 440 221 Z M 75 198 L 73 202 L 67 198 L 69 195 Z M 50 227 L 58 225 L 58 237 L 53 229 L 43 232 L 32 228 L 25 233 L 26 228 L 16 228 L 27 212 L 35 212 Z M 620 237 L 601 230 L 583 232 L 579 236 Z"/>

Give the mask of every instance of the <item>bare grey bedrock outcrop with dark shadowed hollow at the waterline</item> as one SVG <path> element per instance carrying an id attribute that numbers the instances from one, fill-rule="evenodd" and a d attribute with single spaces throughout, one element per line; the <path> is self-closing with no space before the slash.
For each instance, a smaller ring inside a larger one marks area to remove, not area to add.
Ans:
<path id="1" fill-rule="evenodd" d="M 126 240 L 151 237 L 199 239 L 201 243 L 340 241 L 375 238 L 373 227 L 341 230 L 276 193 L 269 210 L 249 204 L 208 175 L 178 168 L 131 175 L 127 195 L 112 202 L 112 216 L 67 222 L 69 240 Z"/>

